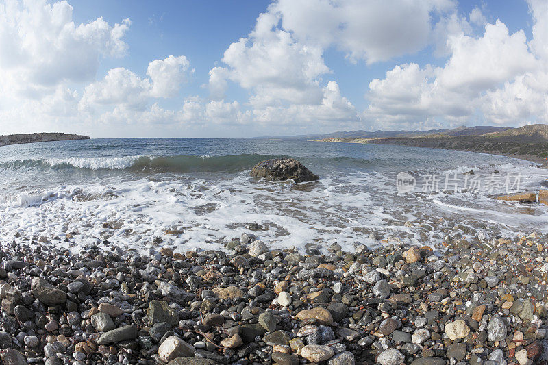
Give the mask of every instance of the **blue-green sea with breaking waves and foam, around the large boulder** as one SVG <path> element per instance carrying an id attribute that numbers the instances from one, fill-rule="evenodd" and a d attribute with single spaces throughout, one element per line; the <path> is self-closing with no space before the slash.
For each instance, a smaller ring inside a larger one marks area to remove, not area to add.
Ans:
<path id="1" fill-rule="evenodd" d="M 264 181 L 262 160 L 297 158 L 319 181 Z M 306 140 L 120 138 L 0 147 L 0 243 L 79 251 L 272 249 L 490 242 L 548 229 L 548 207 L 497 201 L 538 190 L 548 169 L 516 158 Z M 257 225 L 251 225 L 257 223 Z M 67 239 L 67 237 L 71 239 Z"/>

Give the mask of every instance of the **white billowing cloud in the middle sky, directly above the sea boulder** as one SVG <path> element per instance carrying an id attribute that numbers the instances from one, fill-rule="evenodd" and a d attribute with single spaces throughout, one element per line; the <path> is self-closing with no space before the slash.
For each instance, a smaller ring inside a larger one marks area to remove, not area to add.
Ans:
<path id="1" fill-rule="evenodd" d="M 211 88 L 222 90 L 225 75 L 242 88 L 253 90 L 253 105 L 319 103 L 321 75 L 329 72 L 323 50 L 293 40 L 289 32 L 276 29 L 279 18 L 260 14 L 249 38 L 240 38 L 225 51 L 226 68 L 210 72 Z"/>

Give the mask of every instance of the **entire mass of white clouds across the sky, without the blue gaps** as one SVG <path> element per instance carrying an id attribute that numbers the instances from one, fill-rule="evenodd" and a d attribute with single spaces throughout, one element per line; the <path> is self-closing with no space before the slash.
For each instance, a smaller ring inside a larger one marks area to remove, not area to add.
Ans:
<path id="1" fill-rule="evenodd" d="M 548 3 L 526 1 L 530 39 L 503 21 L 489 23 L 484 7 L 462 14 L 456 0 L 275 0 L 225 49 L 204 84 L 209 97 L 199 97 L 181 92 L 193 73 L 184 55 L 141 70 L 121 61 L 97 75 L 101 60 L 128 54 L 129 19 L 77 24 L 66 1 L 7 0 L 0 2 L 0 121 L 12 131 L 82 132 L 98 123 L 105 130 L 184 125 L 201 134 L 226 126 L 269 134 L 548 121 Z M 369 105 L 356 110 L 327 49 L 364 73 L 419 51 L 433 64 L 388 64 L 384 77 L 363 85 Z M 237 100 L 227 95 L 233 88 L 244 91 Z"/>

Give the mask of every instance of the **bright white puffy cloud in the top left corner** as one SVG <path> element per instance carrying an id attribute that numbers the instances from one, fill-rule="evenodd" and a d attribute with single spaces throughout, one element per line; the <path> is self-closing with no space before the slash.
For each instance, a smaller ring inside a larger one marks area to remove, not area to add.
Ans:
<path id="1" fill-rule="evenodd" d="M 125 54 L 122 38 L 129 24 L 125 19 L 110 26 L 97 18 L 75 25 L 65 1 L 0 3 L 0 78 L 9 82 L 4 92 L 9 88 L 36 97 L 63 81 L 92 79 L 101 56 Z"/>

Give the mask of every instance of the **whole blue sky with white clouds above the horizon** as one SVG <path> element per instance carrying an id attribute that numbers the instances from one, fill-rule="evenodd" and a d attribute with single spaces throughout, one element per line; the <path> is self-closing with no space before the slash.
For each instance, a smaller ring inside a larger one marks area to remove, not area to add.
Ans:
<path id="1" fill-rule="evenodd" d="M 546 0 L 0 0 L 0 134 L 547 122 Z"/>

